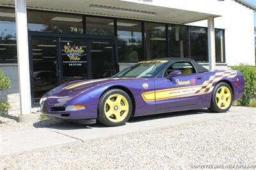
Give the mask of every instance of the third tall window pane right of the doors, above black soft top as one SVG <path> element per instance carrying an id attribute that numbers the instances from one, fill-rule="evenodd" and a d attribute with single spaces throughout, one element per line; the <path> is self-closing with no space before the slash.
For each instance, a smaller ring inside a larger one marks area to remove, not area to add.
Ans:
<path id="1" fill-rule="evenodd" d="M 188 28 L 178 25 L 168 26 L 168 34 L 170 57 L 188 57 Z"/>

